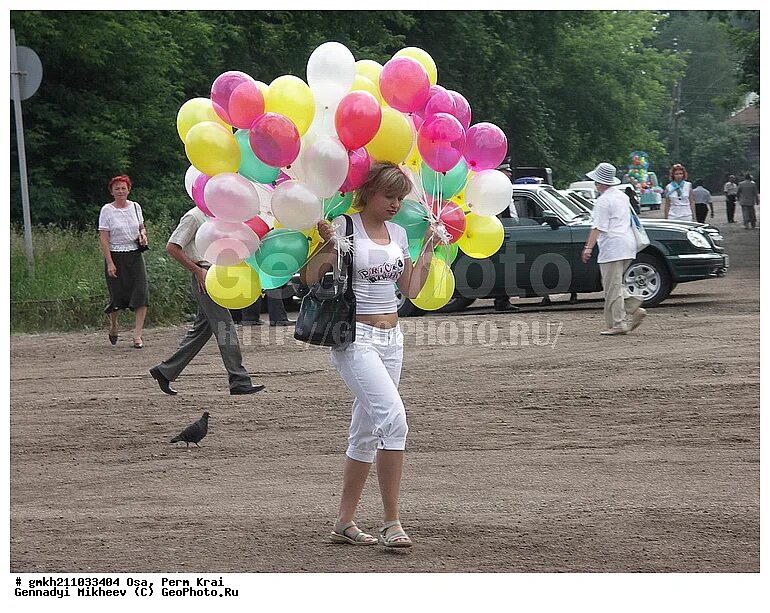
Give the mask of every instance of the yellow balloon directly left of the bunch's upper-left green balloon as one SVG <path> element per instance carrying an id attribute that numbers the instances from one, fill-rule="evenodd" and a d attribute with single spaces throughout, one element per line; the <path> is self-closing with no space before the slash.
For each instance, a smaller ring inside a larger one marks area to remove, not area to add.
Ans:
<path id="1" fill-rule="evenodd" d="M 241 149 L 235 135 L 213 121 L 202 121 L 190 128 L 184 150 L 190 163 L 205 175 L 238 172 L 241 165 Z"/>

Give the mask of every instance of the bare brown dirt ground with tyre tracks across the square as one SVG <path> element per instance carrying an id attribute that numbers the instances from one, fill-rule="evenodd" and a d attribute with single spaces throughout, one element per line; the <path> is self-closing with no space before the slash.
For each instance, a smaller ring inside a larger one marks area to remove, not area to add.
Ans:
<path id="1" fill-rule="evenodd" d="M 15 336 L 11 571 L 757 572 L 759 231 L 714 221 L 728 276 L 633 335 L 598 335 L 600 295 L 403 320 L 408 551 L 329 543 L 351 396 L 290 330 L 244 330 L 251 397 L 213 343 L 160 393 L 185 326 Z M 202 447 L 169 444 L 203 410 Z"/>

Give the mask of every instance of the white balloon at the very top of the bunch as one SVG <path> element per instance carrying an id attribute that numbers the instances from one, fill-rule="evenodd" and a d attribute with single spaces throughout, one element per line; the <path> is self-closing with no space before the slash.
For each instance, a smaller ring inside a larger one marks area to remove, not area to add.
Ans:
<path id="1" fill-rule="evenodd" d="M 307 61 L 307 82 L 313 96 L 322 105 L 339 104 L 350 91 L 356 76 L 356 60 L 342 43 L 320 45 Z"/>

